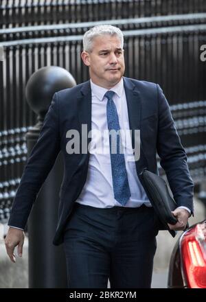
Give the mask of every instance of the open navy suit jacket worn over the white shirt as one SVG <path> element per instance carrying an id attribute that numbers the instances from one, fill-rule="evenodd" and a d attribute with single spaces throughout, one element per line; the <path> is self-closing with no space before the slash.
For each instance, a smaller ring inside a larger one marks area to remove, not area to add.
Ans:
<path id="1" fill-rule="evenodd" d="M 141 151 L 136 161 L 137 175 L 144 167 L 158 174 L 157 157 L 166 172 L 170 188 L 178 206 L 193 211 L 193 187 L 187 167 L 187 156 L 181 145 L 163 91 L 158 84 L 124 78 L 130 130 L 140 129 Z M 62 152 L 65 174 L 60 187 L 58 225 L 54 244 L 63 240 L 63 230 L 71 214 L 74 201 L 80 195 L 87 179 L 89 152 L 68 154 L 69 139 L 66 132 L 76 129 L 82 132 L 82 124 L 91 130 L 91 85 L 84 82 L 71 89 L 55 93 L 45 115 L 41 134 L 32 152 L 16 191 L 9 225 L 24 229 L 32 205 L 52 169 L 56 157 Z M 90 139 L 87 141 L 90 142 Z M 134 148 L 134 132 L 132 135 Z M 141 181 L 141 180 L 140 180 Z"/>

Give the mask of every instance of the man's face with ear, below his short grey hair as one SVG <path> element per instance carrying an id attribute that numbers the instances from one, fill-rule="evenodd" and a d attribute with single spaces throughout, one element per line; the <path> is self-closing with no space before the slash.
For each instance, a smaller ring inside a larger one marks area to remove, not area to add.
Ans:
<path id="1" fill-rule="evenodd" d="M 106 89 L 115 86 L 124 74 L 124 50 L 117 36 L 95 37 L 91 51 L 82 52 L 82 60 L 89 66 L 93 83 Z"/>

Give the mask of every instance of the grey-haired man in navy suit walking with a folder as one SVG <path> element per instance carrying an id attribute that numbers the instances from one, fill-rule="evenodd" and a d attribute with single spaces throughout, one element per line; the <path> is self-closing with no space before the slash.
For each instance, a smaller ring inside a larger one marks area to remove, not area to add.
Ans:
<path id="1" fill-rule="evenodd" d="M 123 77 L 122 32 L 93 27 L 83 46 L 91 79 L 55 93 L 16 192 L 5 245 L 15 262 L 14 247 L 21 256 L 27 218 L 61 151 L 54 244 L 64 243 L 69 287 L 106 288 L 109 278 L 111 288 L 150 288 L 159 222 L 138 175 L 144 167 L 158 173 L 157 152 L 177 204 L 170 229 L 183 230 L 193 213 L 187 157 L 159 85 Z"/>

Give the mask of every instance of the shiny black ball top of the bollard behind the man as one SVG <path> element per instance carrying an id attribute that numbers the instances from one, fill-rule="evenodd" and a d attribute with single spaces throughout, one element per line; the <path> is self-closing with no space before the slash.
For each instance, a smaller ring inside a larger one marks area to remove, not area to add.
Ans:
<path id="1" fill-rule="evenodd" d="M 27 82 L 27 103 L 39 117 L 44 118 L 54 93 L 73 86 L 76 86 L 76 80 L 66 69 L 58 66 L 42 67 Z"/>

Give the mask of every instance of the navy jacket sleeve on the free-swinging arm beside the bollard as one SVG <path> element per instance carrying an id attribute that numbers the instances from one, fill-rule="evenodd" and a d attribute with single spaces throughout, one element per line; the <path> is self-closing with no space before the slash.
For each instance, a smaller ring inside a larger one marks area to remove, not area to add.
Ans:
<path id="1" fill-rule="evenodd" d="M 10 213 L 8 225 L 25 228 L 32 205 L 60 152 L 58 94 L 45 115 L 38 141 L 27 160 Z"/>

